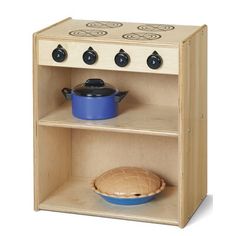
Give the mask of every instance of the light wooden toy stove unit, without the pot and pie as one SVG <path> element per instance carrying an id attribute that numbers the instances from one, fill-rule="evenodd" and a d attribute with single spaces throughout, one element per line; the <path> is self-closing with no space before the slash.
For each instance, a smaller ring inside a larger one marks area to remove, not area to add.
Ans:
<path id="1" fill-rule="evenodd" d="M 207 27 L 68 18 L 33 38 L 35 210 L 184 227 L 207 194 Z M 117 117 L 72 116 L 61 90 L 89 78 L 129 91 Z M 119 166 L 166 188 L 146 204 L 107 203 L 91 182 Z"/>

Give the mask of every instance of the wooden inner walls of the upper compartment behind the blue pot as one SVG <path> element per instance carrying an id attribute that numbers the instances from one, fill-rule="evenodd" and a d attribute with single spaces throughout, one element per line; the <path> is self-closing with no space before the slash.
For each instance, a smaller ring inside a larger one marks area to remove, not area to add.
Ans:
<path id="1" fill-rule="evenodd" d="M 89 78 L 101 78 L 119 90 L 129 91 L 120 103 L 122 107 L 148 104 L 178 107 L 177 75 L 39 66 L 39 119 L 65 102 L 63 87 L 73 88 Z"/>

